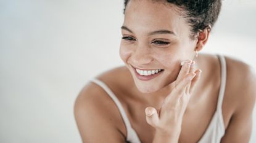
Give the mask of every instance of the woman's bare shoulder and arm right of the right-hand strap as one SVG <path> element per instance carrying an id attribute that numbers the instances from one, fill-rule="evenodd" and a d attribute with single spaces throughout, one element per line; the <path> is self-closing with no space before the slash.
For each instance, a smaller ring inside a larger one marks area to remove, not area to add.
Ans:
<path id="1" fill-rule="evenodd" d="M 232 110 L 221 142 L 249 142 L 256 98 L 255 69 L 244 61 L 229 56 L 225 59 L 227 80 L 223 106 Z"/>

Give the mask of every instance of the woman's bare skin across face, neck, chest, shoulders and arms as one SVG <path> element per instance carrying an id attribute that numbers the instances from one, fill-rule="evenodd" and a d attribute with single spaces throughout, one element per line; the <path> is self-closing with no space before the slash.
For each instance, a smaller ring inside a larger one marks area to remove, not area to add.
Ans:
<path id="1" fill-rule="evenodd" d="M 199 53 L 193 66 L 186 68 L 180 63 L 191 60 L 196 49 L 202 50 L 210 31 L 204 29 L 196 39 L 190 39 L 190 27 L 176 7 L 152 1 L 130 1 L 123 26 L 123 37 L 133 39 L 122 39 L 120 44 L 120 58 L 125 66 L 106 71 L 96 78 L 106 83 L 120 100 L 141 142 L 198 142 L 216 110 L 221 82 L 220 61 L 216 55 Z M 152 31 L 160 29 L 173 31 L 175 35 L 149 36 Z M 159 42 L 155 41 L 170 44 L 158 45 Z M 249 142 L 256 96 L 255 72 L 242 61 L 228 56 L 225 59 L 227 79 L 222 113 L 226 133 L 221 142 Z M 164 71 L 155 79 L 142 81 L 137 79 L 133 66 Z M 192 72 L 196 76 L 181 86 L 181 81 Z M 192 90 L 186 94 L 188 102 L 182 104 L 185 108 L 171 114 L 179 115 L 178 121 L 171 121 L 171 117 L 165 116 L 163 122 L 163 116 L 159 117 L 159 112 L 154 110 L 161 109 L 165 101 L 162 110 L 167 112 L 168 107 L 177 104 L 177 99 L 185 97 L 174 93 L 176 83 L 181 91 Z M 176 98 L 168 98 L 170 95 Z M 149 109 L 146 110 L 149 114 L 145 114 L 145 109 Z M 75 101 L 74 113 L 83 142 L 125 142 L 126 128 L 117 107 L 95 83 L 88 83 L 81 90 Z M 175 128 L 167 132 L 159 128 L 156 117 L 161 120 L 161 125 L 176 125 Z M 164 136 L 163 131 L 168 136 Z"/>

